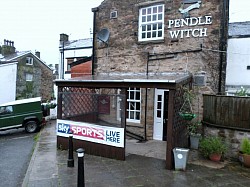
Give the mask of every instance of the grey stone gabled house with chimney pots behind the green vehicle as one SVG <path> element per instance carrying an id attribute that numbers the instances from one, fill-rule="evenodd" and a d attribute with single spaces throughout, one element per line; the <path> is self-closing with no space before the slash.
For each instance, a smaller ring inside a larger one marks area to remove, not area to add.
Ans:
<path id="1" fill-rule="evenodd" d="M 10 95 L 15 95 L 12 99 L 23 99 L 41 97 L 42 101 L 50 100 L 53 94 L 53 72 L 45 62 L 40 59 L 40 53 L 33 54 L 31 51 L 16 51 L 14 42 L 4 40 L 1 46 L 1 62 L 11 64 L 17 62 L 16 72 L 4 72 L 5 79 L 1 79 L 1 87 L 6 85 L 10 78 L 16 76 L 15 90 L 12 89 Z M 3 71 L 3 67 L 1 67 Z M 14 75 L 15 74 L 15 75 Z M 4 88 L 1 88 L 1 90 Z M 2 97 L 2 96 L 1 96 Z M 4 96 L 6 97 L 6 96 Z"/>

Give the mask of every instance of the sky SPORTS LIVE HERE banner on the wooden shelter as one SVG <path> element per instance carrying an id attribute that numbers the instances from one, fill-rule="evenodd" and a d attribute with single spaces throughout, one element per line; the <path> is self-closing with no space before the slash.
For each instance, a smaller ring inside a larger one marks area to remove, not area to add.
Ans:
<path id="1" fill-rule="evenodd" d="M 73 133 L 73 138 L 78 140 L 85 140 L 114 147 L 124 147 L 123 128 L 99 126 L 68 120 L 57 120 L 57 136 L 69 137 L 70 131 Z"/>

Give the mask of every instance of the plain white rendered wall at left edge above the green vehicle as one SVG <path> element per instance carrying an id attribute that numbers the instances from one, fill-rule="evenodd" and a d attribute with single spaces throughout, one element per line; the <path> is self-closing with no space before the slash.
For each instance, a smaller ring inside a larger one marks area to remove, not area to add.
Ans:
<path id="1" fill-rule="evenodd" d="M 17 63 L 0 65 L 0 104 L 16 99 Z"/>

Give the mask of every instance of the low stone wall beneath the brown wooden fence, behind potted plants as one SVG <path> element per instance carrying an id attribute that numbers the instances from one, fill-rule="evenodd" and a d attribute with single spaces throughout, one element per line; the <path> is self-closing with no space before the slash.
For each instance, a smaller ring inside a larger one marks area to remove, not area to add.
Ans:
<path id="1" fill-rule="evenodd" d="M 205 135 L 219 136 L 222 137 L 229 145 L 226 157 L 238 159 L 238 151 L 240 150 L 240 144 L 244 137 L 250 138 L 250 132 L 216 128 L 216 127 L 205 127 Z"/>

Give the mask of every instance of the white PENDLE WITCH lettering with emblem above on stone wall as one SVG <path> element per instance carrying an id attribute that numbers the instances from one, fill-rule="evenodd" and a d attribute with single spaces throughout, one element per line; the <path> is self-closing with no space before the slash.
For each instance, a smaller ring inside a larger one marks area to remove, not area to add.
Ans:
<path id="1" fill-rule="evenodd" d="M 207 36 L 207 28 L 196 28 L 195 26 L 211 25 L 213 23 L 212 16 L 205 15 L 199 17 L 189 17 L 189 12 L 194 9 L 199 9 L 201 3 L 201 1 L 197 0 L 182 1 L 181 8 L 179 8 L 179 11 L 183 15 L 183 18 L 168 20 L 168 29 L 183 27 L 183 29 L 169 31 L 169 35 L 172 39 L 189 37 L 197 38 Z"/>

